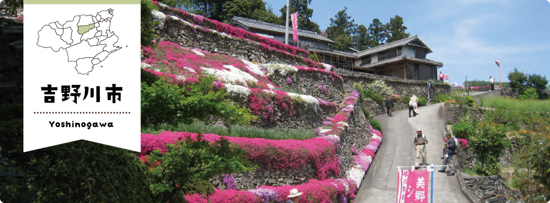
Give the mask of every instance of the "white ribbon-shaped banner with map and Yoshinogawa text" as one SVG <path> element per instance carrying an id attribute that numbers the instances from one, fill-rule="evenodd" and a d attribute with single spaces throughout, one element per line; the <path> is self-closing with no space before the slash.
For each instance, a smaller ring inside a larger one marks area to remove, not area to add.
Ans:
<path id="1" fill-rule="evenodd" d="M 23 151 L 140 151 L 140 1 L 27 0 Z"/>

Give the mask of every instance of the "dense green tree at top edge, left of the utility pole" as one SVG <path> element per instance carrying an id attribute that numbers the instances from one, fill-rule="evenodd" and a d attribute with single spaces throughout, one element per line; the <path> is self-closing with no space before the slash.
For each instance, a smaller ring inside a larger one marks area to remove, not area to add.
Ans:
<path id="1" fill-rule="evenodd" d="M 273 14 L 273 10 L 266 9 L 266 2 L 262 0 L 233 0 L 223 5 L 224 19 L 228 23 L 233 16 L 239 16 L 248 19 L 260 20 L 264 22 L 276 22 L 278 17 Z"/>

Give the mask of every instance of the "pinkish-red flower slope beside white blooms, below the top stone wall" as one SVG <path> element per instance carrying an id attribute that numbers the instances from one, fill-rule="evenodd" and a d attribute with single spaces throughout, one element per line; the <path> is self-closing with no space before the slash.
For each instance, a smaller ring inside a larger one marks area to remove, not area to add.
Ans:
<path id="1" fill-rule="evenodd" d="M 225 65 L 232 65 L 235 68 L 250 74 L 252 77 L 258 80 L 257 87 L 266 89 L 267 84 L 275 86 L 266 76 L 256 75 L 254 72 L 248 69 L 243 61 L 240 59 L 234 59 L 228 57 L 227 55 L 222 54 L 210 54 L 202 52 L 205 56 L 202 57 L 197 55 L 189 49 L 184 49 L 176 43 L 172 42 L 159 42 L 158 47 L 152 49 L 150 47 L 141 48 L 146 58 L 142 63 L 146 64 L 156 64 L 157 66 L 162 66 L 170 71 L 170 74 L 174 77 L 175 74 L 197 77 L 204 75 L 204 70 L 201 67 L 217 69 L 217 70 L 227 70 L 224 67 Z M 224 81 L 221 81 L 224 82 Z"/>

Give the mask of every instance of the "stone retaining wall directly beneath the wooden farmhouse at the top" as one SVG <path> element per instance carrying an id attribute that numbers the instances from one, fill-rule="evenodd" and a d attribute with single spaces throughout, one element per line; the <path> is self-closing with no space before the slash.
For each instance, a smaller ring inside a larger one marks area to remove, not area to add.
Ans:
<path id="1" fill-rule="evenodd" d="M 405 80 L 398 77 L 388 77 L 381 75 L 367 74 L 364 72 L 355 72 L 343 69 L 335 69 L 338 75 L 344 78 L 344 82 L 349 85 L 354 83 L 361 83 L 363 85 L 373 82 L 378 79 L 382 79 L 388 84 L 389 87 L 394 89 L 395 94 L 406 95 L 411 97 L 416 94 L 417 97 L 425 97 L 428 99 L 428 84 L 426 81 Z M 448 84 L 434 84 L 430 89 L 430 98 L 439 94 L 450 93 L 450 86 Z"/>

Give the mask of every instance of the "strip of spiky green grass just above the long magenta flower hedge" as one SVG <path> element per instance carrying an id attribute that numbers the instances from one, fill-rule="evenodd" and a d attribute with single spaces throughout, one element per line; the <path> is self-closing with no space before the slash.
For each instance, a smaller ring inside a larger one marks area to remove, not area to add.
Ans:
<path id="1" fill-rule="evenodd" d="M 189 125 L 180 124 L 172 127 L 161 125 L 158 128 L 142 128 L 141 133 L 160 134 L 162 131 L 190 132 L 190 133 L 212 133 L 219 136 L 264 138 L 264 139 L 298 139 L 304 140 L 317 137 L 312 129 L 295 128 L 259 128 L 255 126 L 232 125 L 231 129 L 222 125 L 206 125 L 204 122 L 194 122 Z"/>

